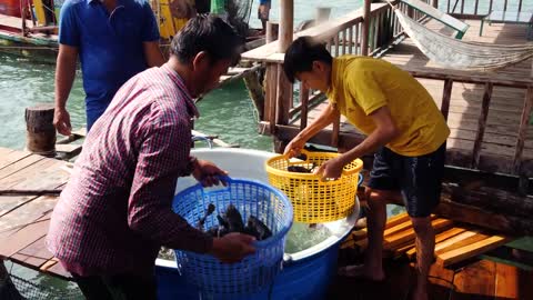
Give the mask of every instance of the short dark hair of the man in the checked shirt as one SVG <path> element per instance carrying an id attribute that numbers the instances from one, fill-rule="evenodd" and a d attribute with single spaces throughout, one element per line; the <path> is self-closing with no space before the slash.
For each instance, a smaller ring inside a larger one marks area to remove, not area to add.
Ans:
<path id="1" fill-rule="evenodd" d="M 177 56 L 182 63 L 191 62 L 198 53 L 204 51 L 212 63 L 229 59 L 232 64 L 237 64 L 241 58 L 243 41 L 222 19 L 199 14 L 190 19 L 174 36 L 170 53 Z"/>

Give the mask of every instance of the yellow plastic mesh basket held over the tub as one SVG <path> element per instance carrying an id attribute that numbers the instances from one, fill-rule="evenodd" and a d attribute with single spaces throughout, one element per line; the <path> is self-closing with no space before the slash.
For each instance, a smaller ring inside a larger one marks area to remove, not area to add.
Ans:
<path id="1" fill-rule="evenodd" d="M 265 162 L 270 184 L 284 192 L 292 202 L 294 221 L 321 223 L 351 214 L 355 206 L 359 172 L 363 168 L 363 162 L 355 159 L 344 166 L 341 178 L 322 181 L 313 173 L 291 172 L 288 168 L 298 166 L 312 169 L 339 154 L 305 150 L 302 154 L 305 156 L 305 160 L 276 156 Z"/>

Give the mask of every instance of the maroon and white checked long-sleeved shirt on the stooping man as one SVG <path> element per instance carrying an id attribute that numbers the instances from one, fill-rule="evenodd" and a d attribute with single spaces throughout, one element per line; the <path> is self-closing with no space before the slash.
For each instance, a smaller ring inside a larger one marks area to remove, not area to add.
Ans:
<path id="1" fill-rule="evenodd" d="M 170 67 L 130 79 L 94 123 L 53 210 L 49 250 L 79 276 L 153 270 L 160 247 L 209 251 L 171 210 L 197 108 Z"/>

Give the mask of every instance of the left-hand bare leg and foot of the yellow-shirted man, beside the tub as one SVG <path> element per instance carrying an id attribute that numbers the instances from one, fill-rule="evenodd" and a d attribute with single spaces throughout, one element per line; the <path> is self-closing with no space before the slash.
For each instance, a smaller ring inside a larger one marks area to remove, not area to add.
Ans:
<path id="1" fill-rule="evenodd" d="M 366 189 L 369 216 L 366 218 L 369 247 L 363 266 L 349 266 L 341 269 L 341 274 L 365 277 L 371 280 L 383 280 L 383 232 L 386 222 L 386 202 L 400 198 L 399 192 Z"/>

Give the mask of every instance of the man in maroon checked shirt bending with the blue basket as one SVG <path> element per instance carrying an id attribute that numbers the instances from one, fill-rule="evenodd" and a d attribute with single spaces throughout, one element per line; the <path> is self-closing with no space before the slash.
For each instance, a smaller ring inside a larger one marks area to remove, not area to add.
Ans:
<path id="1" fill-rule="evenodd" d="M 192 173 L 212 186 L 225 174 L 190 157 L 192 99 L 218 84 L 241 46 L 221 19 L 191 19 L 174 37 L 169 61 L 122 86 L 89 132 L 47 238 L 88 299 L 157 299 L 161 246 L 223 262 L 254 251 L 250 236 L 211 238 L 171 210 L 178 177 Z"/>

